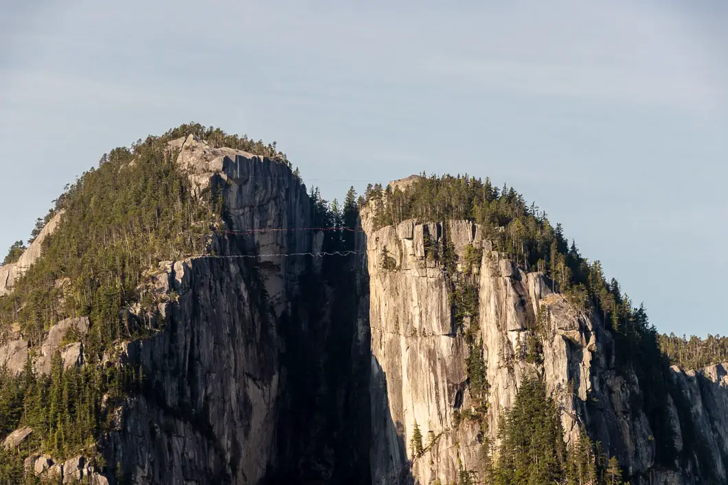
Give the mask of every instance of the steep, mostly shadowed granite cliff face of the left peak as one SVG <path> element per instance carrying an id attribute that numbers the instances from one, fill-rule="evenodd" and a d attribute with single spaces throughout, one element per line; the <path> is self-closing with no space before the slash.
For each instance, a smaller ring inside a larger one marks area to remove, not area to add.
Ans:
<path id="1" fill-rule="evenodd" d="M 149 383 L 114 410 L 106 461 L 135 484 L 366 483 L 365 439 L 341 441 L 365 433 L 351 416 L 366 409 L 355 373 L 368 341 L 347 325 L 357 305 L 331 310 L 350 297 L 328 283 L 336 270 L 301 254 L 324 242 L 295 231 L 315 226 L 304 185 L 285 164 L 191 136 L 170 148 L 198 196 L 221 195 L 225 228 L 214 255 L 153 274 L 164 329 L 112 358 L 141 365 Z M 337 261 L 349 273 L 353 263 Z"/>

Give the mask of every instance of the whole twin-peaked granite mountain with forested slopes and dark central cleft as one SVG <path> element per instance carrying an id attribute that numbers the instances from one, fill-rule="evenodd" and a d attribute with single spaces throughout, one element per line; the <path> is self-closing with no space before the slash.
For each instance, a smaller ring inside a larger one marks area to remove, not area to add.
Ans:
<path id="1" fill-rule="evenodd" d="M 328 204 L 274 144 L 189 124 L 42 223 L 0 266 L 0 481 L 727 482 L 728 364 L 670 366 L 512 188 Z"/>

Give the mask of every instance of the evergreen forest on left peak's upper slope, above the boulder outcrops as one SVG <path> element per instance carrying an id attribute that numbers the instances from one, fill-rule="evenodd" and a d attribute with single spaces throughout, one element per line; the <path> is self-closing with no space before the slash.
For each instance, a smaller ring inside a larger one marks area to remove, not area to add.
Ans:
<path id="1" fill-rule="evenodd" d="M 33 344 L 63 318 L 90 316 L 87 352 L 143 331 L 119 309 L 141 300 L 143 271 L 159 260 L 205 252 L 216 215 L 194 201 L 189 182 L 149 137 L 116 148 L 56 201 L 63 223 L 11 294 L 0 297 L 0 327 L 20 325 Z"/>

